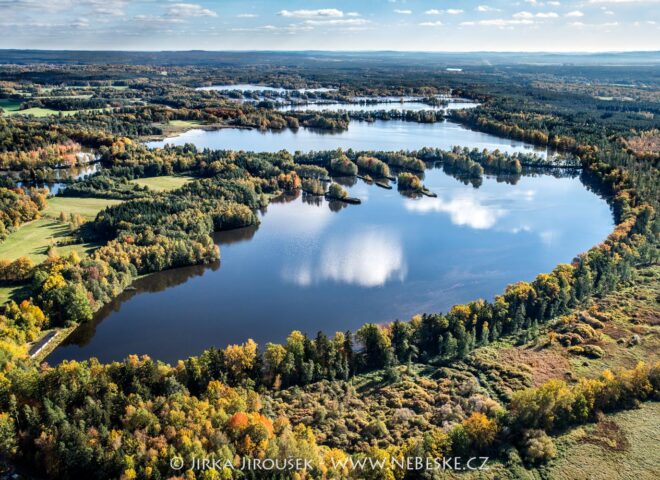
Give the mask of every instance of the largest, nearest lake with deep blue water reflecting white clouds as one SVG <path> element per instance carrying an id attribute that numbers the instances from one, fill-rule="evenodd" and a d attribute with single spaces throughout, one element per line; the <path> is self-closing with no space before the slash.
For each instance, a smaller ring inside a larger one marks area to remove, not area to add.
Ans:
<path id="1" fill-rule="evenodd" d="M 247 148 L 243 134 L 207 132 L 213 140 L 204 146 Z M 271 135 L 278 138 L 286 137 Z M 392 145 L 382 142 L 360 145 Z M 266 144 L 250 146 L 259 145 Z M 570 262 L 613 226 L 608 205 L 578 178 L 522 177 L 515 185 L 485 178 L 473 188 L 433 169 L 424 183 L 438 198 L 410 199 L 358 181 L 348 189 L 361 205 L 303 196 L 273 202 L 259 227 L 216 235 L 221 263 L 138 280 L 136 291 L 109 304 L 48 361 L 137 353 L 173 362 L 248 338 L 263 347 L 294 329 L 332 334 L 447 311 Z"/>

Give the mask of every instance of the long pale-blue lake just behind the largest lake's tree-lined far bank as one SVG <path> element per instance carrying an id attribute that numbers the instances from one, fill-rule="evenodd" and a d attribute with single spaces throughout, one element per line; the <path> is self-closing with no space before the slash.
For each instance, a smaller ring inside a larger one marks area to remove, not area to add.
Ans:
<path id="1" fill-rule="evenodd" d="M 176 137 L 150 142 L 150 147 L 166 144 L 193 143 L 200 148 L 251 150 L 256 152 L 334 150 L 417 150 L 422 147 L 450 149 L 454 145 L 499 149 L 503 152 L 530 152 L 544 154 L 545 149 L 516 140 L 476 132 L 454 122 L 432 124 L 377 120 L 352 121 L 343 132 L 324 132 L 300 128 L 294 130 L 262 131 L 256 129 L 223 128 L 220 130 L 193 129 Z"/>

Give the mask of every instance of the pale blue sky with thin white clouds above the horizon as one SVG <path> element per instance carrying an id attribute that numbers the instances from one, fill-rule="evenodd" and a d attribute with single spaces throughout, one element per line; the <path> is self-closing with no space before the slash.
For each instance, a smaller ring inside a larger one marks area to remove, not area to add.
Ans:
<path id="1" fill-rule="evenodd" d="M 0 0 L 0 48 L 660 50 L 660 0 Z"/>

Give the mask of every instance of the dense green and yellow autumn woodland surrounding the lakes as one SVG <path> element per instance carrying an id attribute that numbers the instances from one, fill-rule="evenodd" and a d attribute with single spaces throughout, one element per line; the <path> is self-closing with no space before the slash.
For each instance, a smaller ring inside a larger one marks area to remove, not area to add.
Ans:
<path id="1" fill-rule="evenodd" d="M 603 109 L 584 93 L 567 93 L 568 87 L 557 83 L 547 90 L 530 86 L 526 71 L 517 73 L 514 87 L 506 90 L 502 77 L 486 74 L 455 78 L 415 72 L 400 80 L 393 69 L 381 85 L 346 72 L 334 76 L 315 72 L 315 80 L 295 73 L 287 76 L 284 70 L 267 72 L 262 78 L 243 72 L 233 80 L 297 87 L 341 84 L 333 95 L 349 98 L 433 95 L 451 89 L 484 102 L 477 109 L 454 111 L 454 120 L 550 146 L 561 155 L 550 161 L 460 147 L 274 154 L 199 151 L 192 145 L 151 150 L 140 143 L 141 137 L 161 135 L 172 120 L 328 129 L 346 128 L 351 121 L 345 114 L 283 115 L 264 106 L 236 103 L 191 88 L 211 76 L 208 71 L 173 70 L 167 80 L 139 66 L 103 73 L 95 73 L 93 67 L 13 67 L 0 75 L 6 80 L 2 88 L 13 95 L 21 81 L 34 82 L 30 85 L 38 92 L 38 82 L 48 79 L 58 85 L 98 86 L 105 104 L 121 105 L 67 117 L 2 115 L 0 160 L 3 169 L 33 173 L 74 161 L 71 154 L 78 146 L 93 148 L 105 168 L 73 182 L 63 195 L 124 200 L 84 226 L 81 235 L 103 244 L 91 255 L 53 253 L 38 265 L 23 260 L 2 264 L 0 281 L 24 286 L 22 298 L 9 302 L 0 316 L 0 455 L 4 458 L 52 478 L 168 478 L 173 475 L 169 466 L 173 456 L 189 460 L 207 455 L 231 460 L 237 456 L 313 459 L 314 468 L 298 472 L 298 478 L 417 478 L 414 472 L 389 467 L 351 472 L 331 465 L 333 459 L 353 454 L 377 459 L 485 455 L 506 461 L 508 449 L 514 448 L 531 468 L 557 455 L 552 439 L 557 432 L 594 421 L 601 412 L 660 399 L 656 357 L 648 364 L 607 370 L 599 377 L 522 385 L 496 399 L 461 395 L 463 382 L 457 381 L 456 388 L 442 390 L 449 412 L 422 431 L 411 427 L 418 434 L 396 443 L 379 441 L 391 435 L 382 421 L 360 425 L 358 435 L 355 426 L 342 427 L 337 420 L 333 431 L 320 436 L 327 417 L 336 420 L 339 413 L 317 409 L 303 421 L 296 410 L 302 396 L 311 395 L 310 389 L 327 388 L 333 390 L 330 395 L 346 396 L 352 382 L 374 372 L 382 374 L 383 388 L 403 385 L 403 368 L 424 365 L 444 372 L 457 365 L 475 365 L 480 349 L 510 338 L 533 337 L 544 329 L 551 329 L 553 338 L 577 355 L 600 355 L 595 347 L 581 343 L 602 328 L 598 320 L 555 322 L 593 298 L 633 285 L 638 269 L 658 262 L 658 156 L 648 147 L 641 149 L 643 153 L 634 148 L 649 145 L 647 140 L 636 140 L 649 135 L 644 132 L 657 132 L 653 130 L 658 128 L 653 115 L 657 102 L 608 103 Z M 564 75 L 573 85 L 572 77 Z M 396 79 L 400 87 L 387 86 L 396 84 Z M 367 88 L 365 82 L 371 86 Z M 130 88 L 105 88 L 111 85 Z M 424 115 L 408 119 L 429 121 Z M 467 180 L 486 174 L 515 177 L 531 168 L 579 168 L 608 198 L 617 225 L 602 244 L 576 252 L 570 264 L 558 265 L 531 282 L 509 285 L 492 300 L 474 300 L 409 321 L 366 324 L 356 332 L 333 336 L 320 332 L 310 337 L 294 331 L 284 344 L 257 346 L 246 340 L 181 359 L 176 365 L 132 356 L 107 365 L 90 360 L 51 367 L 35 366 L 27 356 L 27 342 L 37 339 L 42 330 L 90 321 L 138 275 L 216 261 L 220 252 L 210 234 L 255 224 L 255 210 L 274 195 L 302 189 L 313 195 L 345 197 L 337 183 L 328 186 L 330 175 L 382 180 L 396 175 L 400 189 L 421 192 L 423 172 L 433 166 Z M 161 193 L 130 182 L 172 173 L 195 178 Z M 48 201 L 43 192 L 7 182 L 2 188 L 3 232 L 37 218 Z M 413 386 L 406 388 L 412 391 Z M 403 422 L 405 415 L 399 413 Z M 235 475 L 229 468 L 185 472 L 185 478 Z"/>

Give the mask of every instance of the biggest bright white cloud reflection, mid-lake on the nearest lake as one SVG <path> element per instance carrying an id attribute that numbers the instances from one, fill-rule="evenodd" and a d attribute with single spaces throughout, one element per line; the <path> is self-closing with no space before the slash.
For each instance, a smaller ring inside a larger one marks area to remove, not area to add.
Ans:
<path id="1" fill-rule="evenodd" d="M 283 277 L 300 286 L 333 281 L 360 287 L 378 287 L 390 280 L 403 281 L 408 273 L 400 238 L 375 229 L 349 238 L 329 239 L 317 259 L 303 261 Z"/>

